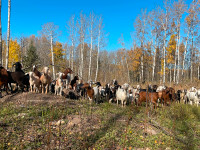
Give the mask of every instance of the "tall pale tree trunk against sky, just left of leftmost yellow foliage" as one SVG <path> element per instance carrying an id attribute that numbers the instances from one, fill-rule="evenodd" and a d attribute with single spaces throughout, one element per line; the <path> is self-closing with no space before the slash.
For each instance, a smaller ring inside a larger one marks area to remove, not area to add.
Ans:
<path id="1" fill-rule="evenodd" d="M 8 0 L 8 30 L 7 30 L 7 49 L 6 49 L 6 69 L 8 69 L 8 58 L 9 58 L 9 42 L 10 42 L 10 3 Z"/>

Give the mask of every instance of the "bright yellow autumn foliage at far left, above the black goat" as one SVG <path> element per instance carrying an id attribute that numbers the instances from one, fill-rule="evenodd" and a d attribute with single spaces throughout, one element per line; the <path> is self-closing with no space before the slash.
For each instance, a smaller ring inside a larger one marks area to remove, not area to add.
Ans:
<path id="1" fill-rule="evenodd" d="M 8 67 L 11 68 L 12 64 L 20 61 L 21 51 L 20 45 L 17 43 L 17 40 L 10 40 L 9 43 L 9 58 L 8 58 Z"/>

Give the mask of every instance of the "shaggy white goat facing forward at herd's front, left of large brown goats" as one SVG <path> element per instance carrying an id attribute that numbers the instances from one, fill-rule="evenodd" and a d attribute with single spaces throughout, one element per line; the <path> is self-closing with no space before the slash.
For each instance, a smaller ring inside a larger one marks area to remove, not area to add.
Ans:
<path id="1" fill-rule="evenodd" d="M 116 92 L 116 99 L 117 99 L 117 105 L 119 103 L 119 100 L 121 100 L 122 107 L 124 107 L 126 105 L 126 102 L 127 102 L 126 90 L 118 88 L 117 92 Z"/>

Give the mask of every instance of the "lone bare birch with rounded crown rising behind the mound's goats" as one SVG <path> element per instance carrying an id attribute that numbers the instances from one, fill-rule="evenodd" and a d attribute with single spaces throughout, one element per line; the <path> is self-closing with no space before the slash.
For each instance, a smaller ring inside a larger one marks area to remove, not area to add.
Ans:
<path id="1" fill-rule="evenodd" d="M 54 63 L 55 60 L 54 60 L 54 52 L 53 52 L 53 42 L 55 38 L 58 36 L 58 26 L 54 25 L 53 22 L 46 23 L 42 26 L 41 33 L 50 41 L 53 79 L 55 79 L 55 63 Z"/>

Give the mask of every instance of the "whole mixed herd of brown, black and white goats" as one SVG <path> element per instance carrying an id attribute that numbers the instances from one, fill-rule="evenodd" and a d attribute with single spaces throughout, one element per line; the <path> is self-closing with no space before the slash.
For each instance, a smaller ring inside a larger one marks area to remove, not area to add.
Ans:
<path id="1" fill-rule="evenodd" d="M 200 103 L 200 89 L 192 87 L 188 90 L 175 91 L 172 87 L 148 85 L 147 89 L 141 89 L 140 85 L 135 88 L 125 83 L 122 86 L 118 84 L 117 80 L 112 80 L 111 84 L 102 86 L 100 82 L 83 83 L 75 76 L 72 80 L 70 78 L 73 71 L 66 68 L 65 71 L 57 73 L 57 79 L 52 80 L 48 67 L 44 67 L 42 73 L 38 71 L 34 65 L 32 72 L 24 73 L 20 62 L 13 64 L 14 72 L 7 71 L 0 66 L 0 89 L 2 88 L 8 94 L 8 89 L 11 93 L 13 91 L 13 84 L 16 84 L 15 91 L 20 90 L 30 92 L 55 93 L 56 95 L 65 96 L 71 99 L 78 99 L 81 97 L 89 98 L 90 101 L 101 103 L 104 101 L 117 102 L 121 101 L 122 106 L 126 104 L 141 105 L 142 102 L 153 104 L 154 108 L 159 103 L 162 105 L 170 105 L 171 102 L 184 102 L 197 106 Z M 2 94 L 0 95 L 2 97 Z"/>

